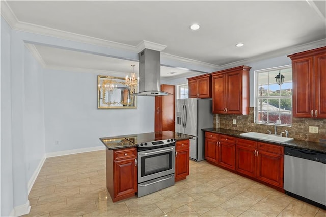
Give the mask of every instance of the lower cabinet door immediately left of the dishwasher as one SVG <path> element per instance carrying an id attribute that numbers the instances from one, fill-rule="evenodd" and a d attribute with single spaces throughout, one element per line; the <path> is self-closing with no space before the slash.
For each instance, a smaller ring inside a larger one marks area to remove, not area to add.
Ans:
<path id="1" fill-rule="evenodd" d="M 257 151 L 257 178 L 283 188 L 284 155 Z"/>

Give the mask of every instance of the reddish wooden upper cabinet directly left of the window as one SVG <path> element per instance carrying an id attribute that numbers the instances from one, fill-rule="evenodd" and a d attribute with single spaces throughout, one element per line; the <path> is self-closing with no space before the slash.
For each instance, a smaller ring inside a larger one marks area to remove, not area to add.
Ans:
<path id="1" fill-rule="evenodd" d="M 212 73 L 213 113 L 249 115 L 249 66 Z"/>

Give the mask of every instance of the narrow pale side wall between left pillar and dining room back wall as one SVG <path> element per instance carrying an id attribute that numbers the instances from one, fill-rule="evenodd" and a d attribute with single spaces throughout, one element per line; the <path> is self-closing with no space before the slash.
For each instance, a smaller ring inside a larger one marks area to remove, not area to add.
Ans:
<path id="1" fill-rule="evenodd" d="M 43 69 L 25 48 L 25 124 L 24 146 L 26 180 L 45 158 Z"/>

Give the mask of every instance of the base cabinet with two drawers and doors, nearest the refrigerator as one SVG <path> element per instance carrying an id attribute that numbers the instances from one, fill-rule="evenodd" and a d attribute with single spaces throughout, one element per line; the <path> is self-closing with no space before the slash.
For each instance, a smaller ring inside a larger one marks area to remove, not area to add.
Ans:
<path id="1" fill-rule="evenodd" d="M 205 132 L 205 159 L 208 162 L 235 169 L 235 138 L 229 135 Z"/>

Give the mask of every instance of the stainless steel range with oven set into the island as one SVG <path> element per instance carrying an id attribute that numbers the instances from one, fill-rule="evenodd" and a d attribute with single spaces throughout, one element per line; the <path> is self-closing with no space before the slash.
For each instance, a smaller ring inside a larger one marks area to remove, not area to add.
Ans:
<path id="1" fill-rule="evenodd" d="M 143 133 L 126 139 L 137 144 L 138 197 L 174 185 L 175 140 L 171 133 Z"/>

